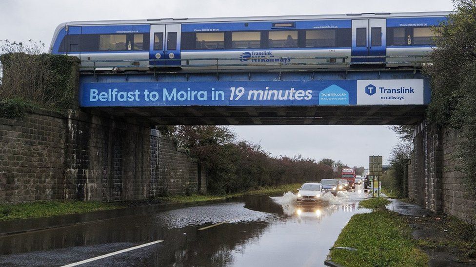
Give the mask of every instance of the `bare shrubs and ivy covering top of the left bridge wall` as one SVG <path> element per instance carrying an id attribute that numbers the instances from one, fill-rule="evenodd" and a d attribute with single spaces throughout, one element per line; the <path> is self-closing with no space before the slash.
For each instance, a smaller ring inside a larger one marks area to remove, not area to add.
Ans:
<path id="1" fill-rule="evenodd" d="M 0 117 L 15 118 L 32 107 L 64 112 L 77 105 L 77 58 L 41 48 L 42 43 L 0 43 Z"/>

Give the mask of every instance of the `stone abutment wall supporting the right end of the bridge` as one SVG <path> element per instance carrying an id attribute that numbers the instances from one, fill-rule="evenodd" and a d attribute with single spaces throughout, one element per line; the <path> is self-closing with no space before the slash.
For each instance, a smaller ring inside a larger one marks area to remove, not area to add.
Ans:
<path id="1" fill-rule="evenodd" d="M 409 198 L 434 212 L 475 223 L 476 202 L 468 198 L 463 174 L 455 170 L 457 132 L 426 122 L 416 127 L 409 163 Z"/>

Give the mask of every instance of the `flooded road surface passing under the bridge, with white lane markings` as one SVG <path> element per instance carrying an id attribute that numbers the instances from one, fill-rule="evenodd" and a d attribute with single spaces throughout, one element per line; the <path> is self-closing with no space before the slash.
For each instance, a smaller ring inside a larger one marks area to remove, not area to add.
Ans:
<path id="1" fill-rule="evenodd" d="M 357 209 L 367 196 L 357 190 L 316 205 L 296 205 L 287 194 L 169 211 L 134 208 L 116 218 L 0 237 L 0 266 L 323 266 L 352 215 L 368 212 Z"/>

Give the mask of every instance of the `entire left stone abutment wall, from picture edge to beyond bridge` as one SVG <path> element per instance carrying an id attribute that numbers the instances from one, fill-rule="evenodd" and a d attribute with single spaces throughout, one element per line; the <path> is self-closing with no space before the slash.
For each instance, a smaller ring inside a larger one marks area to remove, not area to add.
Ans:
<path id="1" fill-rule="evenodd" d="M 206 175 L 197 160 L 157 130 L 79 111 L 0 119 L 0 203 L 198 191 Z"/>

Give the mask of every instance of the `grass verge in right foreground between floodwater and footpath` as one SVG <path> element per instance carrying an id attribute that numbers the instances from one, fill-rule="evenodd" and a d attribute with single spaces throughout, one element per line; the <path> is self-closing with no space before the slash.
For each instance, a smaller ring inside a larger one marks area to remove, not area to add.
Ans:
<path id="1" fill-rule="evenodd" d="M 333 262 L 346 267 L 428 266 L 428 256 L 416 247 L 410 233 L 406 221 L 395 212 L 356 214 L 339 234 L 330 256 Z"/>

